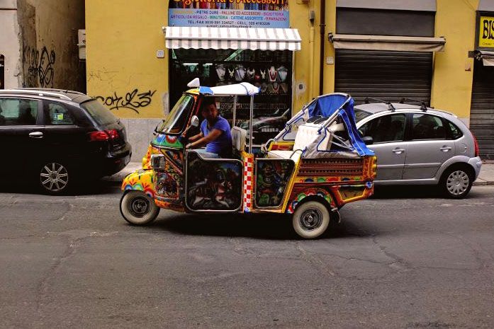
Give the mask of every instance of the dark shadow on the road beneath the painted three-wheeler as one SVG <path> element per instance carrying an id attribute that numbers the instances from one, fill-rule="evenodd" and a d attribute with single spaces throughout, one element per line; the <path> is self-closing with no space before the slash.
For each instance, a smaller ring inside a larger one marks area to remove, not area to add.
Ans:
<path id="1" fill-rule="evenodd" d="M 293 231 L 291 216 L 282 214 L 174 214 L 166 219 L 163 214 L 147 226 L 147 229 L 163 229 L 173 233 L 192 236 L 246 237 L 269 240 L 300 240 Z M 331 223 L 321 237 L 345 238 L 361 236 L 347 231 L 342 224 Z"/>

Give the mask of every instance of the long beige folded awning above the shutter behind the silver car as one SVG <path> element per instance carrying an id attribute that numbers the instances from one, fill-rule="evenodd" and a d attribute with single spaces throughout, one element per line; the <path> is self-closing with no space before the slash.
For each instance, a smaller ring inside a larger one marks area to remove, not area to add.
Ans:
<path id="1" fill-rule="evenodd" d="M 444 37 L 402 37 L 390 35 L 330 34 L 335 49 L 395 50 L 401 52 L 443 52 Z"/>

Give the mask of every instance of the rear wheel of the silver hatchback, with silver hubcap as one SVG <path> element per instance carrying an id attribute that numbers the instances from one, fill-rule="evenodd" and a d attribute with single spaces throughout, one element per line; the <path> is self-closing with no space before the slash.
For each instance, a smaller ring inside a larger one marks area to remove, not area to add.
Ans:
<path id="1" fill-rule="evenodd" d="M 464 166 L 452 166 L 442 174 L 439 187 L 450 199 L 463 199 L 473 185 L 473 174 Z"/>

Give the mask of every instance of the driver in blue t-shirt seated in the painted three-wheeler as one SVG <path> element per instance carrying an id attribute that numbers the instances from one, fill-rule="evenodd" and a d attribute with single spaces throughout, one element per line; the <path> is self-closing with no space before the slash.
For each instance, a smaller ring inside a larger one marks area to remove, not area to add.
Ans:
<path id="1" fill-rule="evenodd" d="M 198 149 L 197 152 L 204 158 L 231 158 L 232 134 L 228 121 L 218 114 L 214 97 L 203 98 L 201 113 L 204 117 L 201 123 L 201 132 L 189 137 L 186 149 Z"/>

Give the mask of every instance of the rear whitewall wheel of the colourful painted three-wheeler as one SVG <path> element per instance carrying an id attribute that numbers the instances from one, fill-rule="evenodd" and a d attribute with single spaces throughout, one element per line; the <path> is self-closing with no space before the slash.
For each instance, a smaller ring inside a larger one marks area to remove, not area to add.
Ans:
<path id="1" fill-rule="evenodd" d="M 324 204 L 308 201 L 295 209 L 293 229 L 302 238 L 318 238 L 330 224 L 330 212 Z"/>

